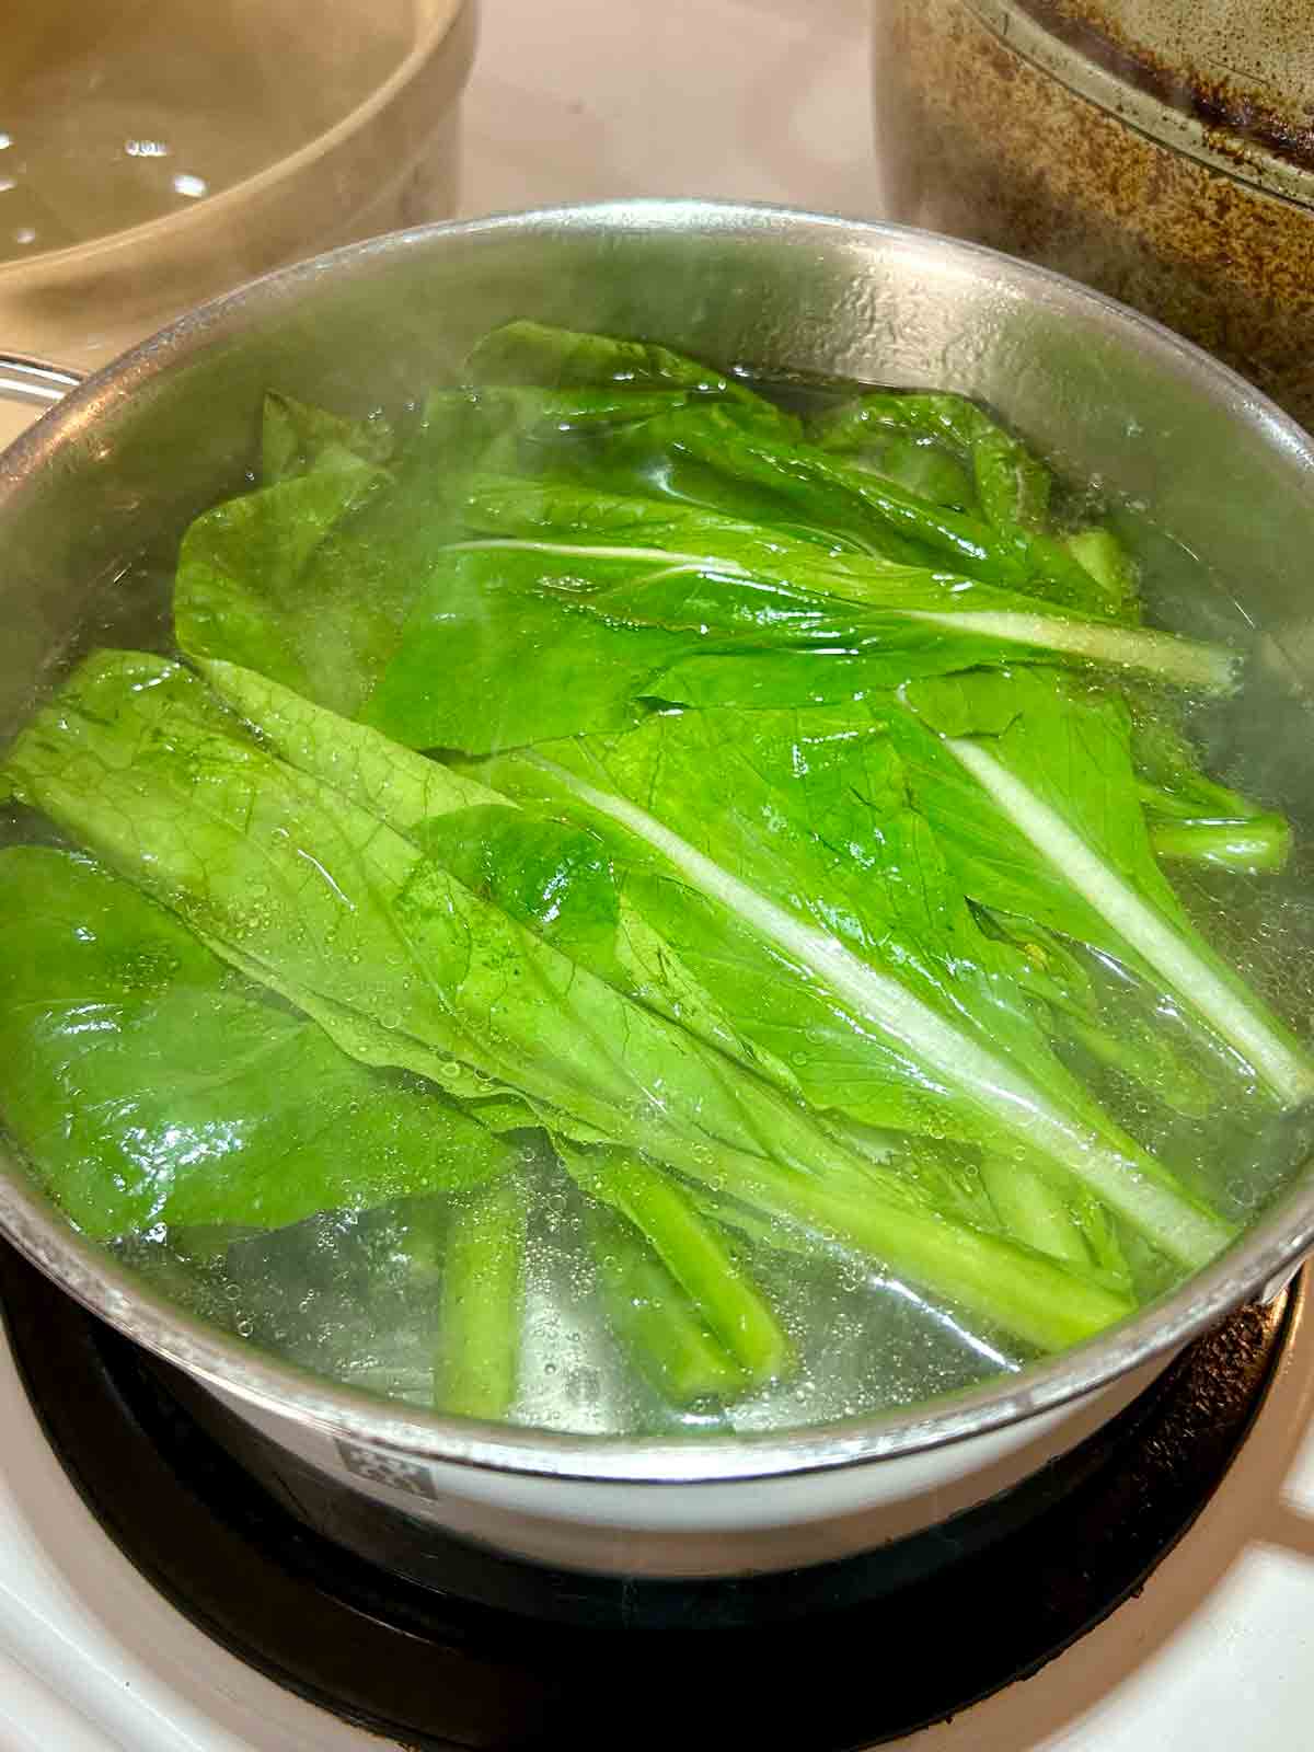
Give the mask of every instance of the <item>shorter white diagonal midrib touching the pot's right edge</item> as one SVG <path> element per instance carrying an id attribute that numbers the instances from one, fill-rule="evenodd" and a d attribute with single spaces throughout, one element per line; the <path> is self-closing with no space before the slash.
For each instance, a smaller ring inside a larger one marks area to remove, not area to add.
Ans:
<path id="1" fill-rule="evenodd" d="M 1284 1102 L 1314 1095 L 1314 1067 L 1261 1014 L 1237 997 L 1207 962 L 1035 792 L 978 743 L 946 738 L 946 748 L 995 799 L 1035 850 L 1200 1013 Z"/>

